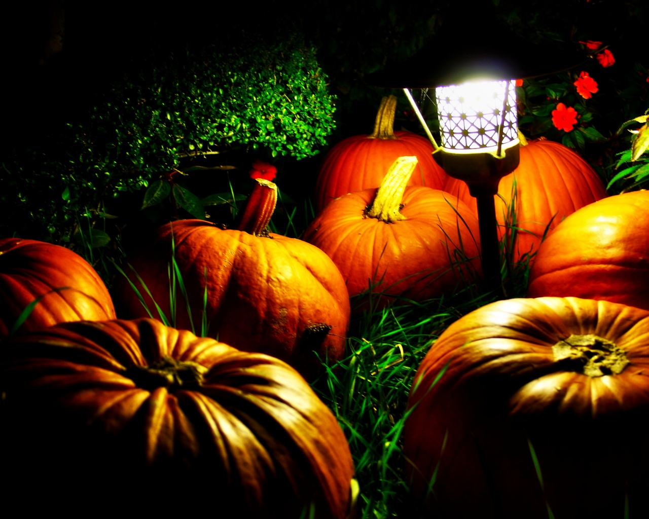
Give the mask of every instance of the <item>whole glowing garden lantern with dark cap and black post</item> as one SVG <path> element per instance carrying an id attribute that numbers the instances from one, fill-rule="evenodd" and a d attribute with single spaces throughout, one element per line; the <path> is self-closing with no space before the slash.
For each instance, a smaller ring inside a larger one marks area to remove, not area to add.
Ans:
<path id="1" fill-rule="evenodd" d="M 572 49 L 534 47 L 489 8 L 447 20 L 421 51 L 365 81 L 402 89 L 433 144 L 435 162 L 466 182 L 478 206 L 485 289 L 504 295 L 494 196 L 500 178 L 519 164 L 515 80 L 567 70 L 584 58 Z M 412 93 L 421 89 L 426 98 L 432 88 L 441 145 Z"/>

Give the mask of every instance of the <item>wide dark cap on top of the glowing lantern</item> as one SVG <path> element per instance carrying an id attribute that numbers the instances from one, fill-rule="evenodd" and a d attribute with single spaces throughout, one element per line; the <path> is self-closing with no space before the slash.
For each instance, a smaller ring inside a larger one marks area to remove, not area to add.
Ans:
<path id="1" fill-rule="evenodd" d="M 445 23 L 410 58 L 365 76 L 383 88 L 434 88 L 474 79 L 524 79 L 557 73 L 586 60 L 574 48 L 533 45 L 480 10 Z"/>

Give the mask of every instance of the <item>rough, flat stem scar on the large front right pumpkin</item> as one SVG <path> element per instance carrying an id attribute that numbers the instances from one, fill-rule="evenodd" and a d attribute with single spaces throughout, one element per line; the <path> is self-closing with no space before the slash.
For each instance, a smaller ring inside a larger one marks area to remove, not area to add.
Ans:
<path id="1" fill-rule="evenodd" d="M 554 360 L 589 377 L 619 374 L 629 360 L 617 344 L 598 335 L 570 335 L 552 346 Z"/>

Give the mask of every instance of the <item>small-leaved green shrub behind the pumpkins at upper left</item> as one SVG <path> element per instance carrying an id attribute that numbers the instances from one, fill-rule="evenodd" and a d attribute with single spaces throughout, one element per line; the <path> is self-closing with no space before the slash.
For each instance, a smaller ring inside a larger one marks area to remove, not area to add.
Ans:
<path id="1" fill-rule="evenodd" d="M 2 202 L 11 209 L 3 234 L 65 241 L 86 208 L 99 212 L 149 186 L 145 207 L 171 196 L 204 217 L 202 200 L 176 177 L 229 166 L 197 161 L 233 151 L 299 160 L 317 154 L 334 129 L 334 96 L 300 32 L 262 38 L 247 30 L 152 53 L 108 81 L 84 119 L 5 158 Z"/>

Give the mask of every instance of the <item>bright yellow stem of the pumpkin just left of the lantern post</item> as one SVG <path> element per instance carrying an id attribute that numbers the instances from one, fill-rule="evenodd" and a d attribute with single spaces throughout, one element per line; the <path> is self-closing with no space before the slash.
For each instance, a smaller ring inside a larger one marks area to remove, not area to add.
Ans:
<path id="1" fill-rule="evenodd" d="M 381 185 L 376 190 L 372 206 L 365 211 L 365 216 L 376 218 L 386 223 L 405 220 L 399 210 L 402 208 L 401 200 L 410 180 L 410 175 L 417 165 L 417 157 L 398 157 L 387 171 Z"/>

